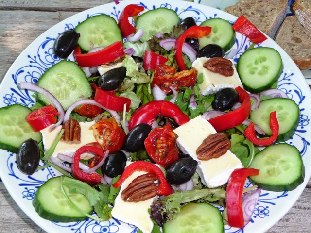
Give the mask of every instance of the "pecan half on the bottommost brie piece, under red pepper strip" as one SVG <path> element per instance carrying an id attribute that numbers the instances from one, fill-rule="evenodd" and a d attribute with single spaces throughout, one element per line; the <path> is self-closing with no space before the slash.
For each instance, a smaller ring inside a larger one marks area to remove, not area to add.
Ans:
<path id="1" fill-rule="evenodd" d="M 138 202 L 155 197 L 157 190 L 156 180 L 157 177 L 151 173 L 138 176 L 122 191 L 122 200 Z"/>

